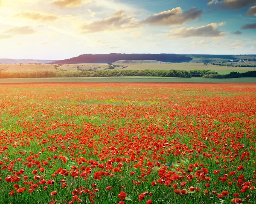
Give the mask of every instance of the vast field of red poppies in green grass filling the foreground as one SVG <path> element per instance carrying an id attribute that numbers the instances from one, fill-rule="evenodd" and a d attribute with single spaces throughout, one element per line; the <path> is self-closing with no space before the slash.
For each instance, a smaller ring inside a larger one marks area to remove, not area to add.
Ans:
<path id="1" fill-rule="evenodd" d="M 0 114 L 0 203 L 256 203 L 256 84 L 6 84 Z"/>

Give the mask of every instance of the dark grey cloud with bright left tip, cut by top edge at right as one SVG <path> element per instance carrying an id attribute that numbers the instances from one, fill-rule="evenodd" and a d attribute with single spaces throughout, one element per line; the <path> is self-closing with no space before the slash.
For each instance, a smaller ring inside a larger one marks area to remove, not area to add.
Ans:
<path id="1" fill-rule="evenodd" d="M 249 6 L 252 3 L 256 3 L 256 0 L 212 0 L 208 3 L 208 6 L 211 6 L 213 3 L 222 9 L 238 10 L 240 8 L 244 8 L 245 6 Z"/>

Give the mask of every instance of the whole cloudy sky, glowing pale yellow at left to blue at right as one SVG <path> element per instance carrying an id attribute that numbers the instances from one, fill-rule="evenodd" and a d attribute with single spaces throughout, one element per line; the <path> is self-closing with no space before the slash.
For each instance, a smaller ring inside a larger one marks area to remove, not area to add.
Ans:
<path id="1" fill-rule="evenodd" d="M 256 54 L 256 0 L 0 0 L 0 58 Z"/>

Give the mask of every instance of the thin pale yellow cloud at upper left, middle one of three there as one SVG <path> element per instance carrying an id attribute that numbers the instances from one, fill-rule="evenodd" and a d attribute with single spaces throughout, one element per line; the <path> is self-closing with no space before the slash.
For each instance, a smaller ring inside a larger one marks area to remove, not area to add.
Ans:
<path id="1" fill-rule="evenodd" d="M 15 15 L 15 17 L 26 18 L 38 22 L 52 22 L 58 19 L 58 16 L 54 14 L 44 14 L 39 12 L 27 12 L 22 11 L 20 14 Z"/>

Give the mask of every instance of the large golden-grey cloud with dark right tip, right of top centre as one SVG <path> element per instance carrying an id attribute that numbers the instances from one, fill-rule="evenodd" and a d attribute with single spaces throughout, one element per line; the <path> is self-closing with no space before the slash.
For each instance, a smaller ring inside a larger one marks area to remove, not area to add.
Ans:
<path id="1" fill-rule="evenodd" d="M 151 26 L 183 25 L 187 21 L 200 18 L 202 14 L 203 10 L 198 10 L 197 8 L 190 8 L 188 11 L 183 11 L 180 7 L 177 7 L 169 11 L 163 11 L 148 16 L 145 20 L 142 20 L 141 23 Z"/>

